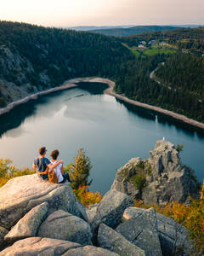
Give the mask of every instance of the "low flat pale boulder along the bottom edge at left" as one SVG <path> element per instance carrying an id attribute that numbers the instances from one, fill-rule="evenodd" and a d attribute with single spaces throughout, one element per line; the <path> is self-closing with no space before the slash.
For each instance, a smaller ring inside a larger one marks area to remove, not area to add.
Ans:
<path id="1" fill-rule="evenodd" d="M 108 250 L 51 238 L 30 237 L 16 241 L 13 246 L 0 252 L 0 256 L 116 256 Z"/>

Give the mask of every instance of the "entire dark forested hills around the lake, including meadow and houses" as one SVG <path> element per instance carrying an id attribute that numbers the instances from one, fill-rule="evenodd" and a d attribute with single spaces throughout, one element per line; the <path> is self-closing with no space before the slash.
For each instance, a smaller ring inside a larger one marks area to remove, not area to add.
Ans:
<path id="1" fill-rule="evenodd" d="M 204 122 L 203 49 L 204 28 L 114 38 L 1 21 L 0 107 L 66 79 L 100 76 L 117 93 Z"/>

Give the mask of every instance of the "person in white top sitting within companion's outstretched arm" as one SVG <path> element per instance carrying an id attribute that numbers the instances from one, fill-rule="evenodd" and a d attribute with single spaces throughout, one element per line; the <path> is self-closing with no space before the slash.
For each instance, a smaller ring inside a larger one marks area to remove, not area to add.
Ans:
<path id="1" fill-rule="evenodd" d="M 50 160 L 51 164 L 54 166 L 56 163 L 59 163 L 57 160 L 59 156 L 59 150 L 55 149 L 50 154 L 52 160 Z M 64 172 L 63 163 L 60 163 L 59 166 L 54 167 L 54 172 L 58 177 L 58 183 L 65 183 L 66 180 L 71 183 L 71 179 L 68 173 Z"/>

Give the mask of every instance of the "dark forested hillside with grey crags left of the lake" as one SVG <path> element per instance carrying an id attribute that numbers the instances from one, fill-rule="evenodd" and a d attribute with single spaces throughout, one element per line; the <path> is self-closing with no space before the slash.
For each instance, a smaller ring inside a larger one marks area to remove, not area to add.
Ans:
<path id="1" fill-rule="evenodd" d="M 114 77 L 118 65 L 133 59 L 132 53 L 114 38 L 0 22 L 0 86 L 6 102 L 12 99 L 3 84 L 10 82 L 8 88 L 15 84 L 31 93 L 76 77 Z"/>

